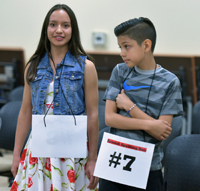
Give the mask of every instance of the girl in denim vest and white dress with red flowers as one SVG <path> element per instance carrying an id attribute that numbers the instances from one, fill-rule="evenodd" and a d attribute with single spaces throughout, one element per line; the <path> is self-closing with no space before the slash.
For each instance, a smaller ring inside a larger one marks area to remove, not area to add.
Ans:
<path id="1" fill-rule="evenodd" d="M 52 7 L 38 47 L 25 68 L 11 190 L 97 190 L 98 178 L 93 171 L 98 141 L 98 83 L 95 66 L 87 56 L 73 11 L 67 5 Z M 32 114 L 70 115 L 71 111 L 73 115 L 87 114 L 87 158 L 34 158 L 30 135 L 20 159 Z"/>

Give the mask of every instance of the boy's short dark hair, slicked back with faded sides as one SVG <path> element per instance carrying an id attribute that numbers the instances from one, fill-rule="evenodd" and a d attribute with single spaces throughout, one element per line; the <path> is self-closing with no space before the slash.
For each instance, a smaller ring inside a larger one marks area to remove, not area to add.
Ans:
<path id="1" fill-rule="evenodd" d="M 117 37 L 120 35 L 127 35 L 139 45 L 141 45 L 144 40 L 149 39 L 152 42 L 151 51 L 154 51 L 156 29 L 148 18 L 140 17 L 139 19 L 135 18 L 125 21 L 115 27 L 114 33 Z"/>

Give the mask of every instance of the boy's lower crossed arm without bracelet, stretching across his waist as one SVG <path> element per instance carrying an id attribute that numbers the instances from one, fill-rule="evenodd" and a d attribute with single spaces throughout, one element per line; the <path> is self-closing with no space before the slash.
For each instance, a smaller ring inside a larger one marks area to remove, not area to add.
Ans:
<path id="1" fill-rule="evenodd" d="M 105 121 L 107 126 L 123 130 L 144 130 L 158 140 L 165 140 L 172 130 L 170 124 L 167 121 L 152 119 L 137 119 L 120 115 L 117 113 L 116 102 L 106 100 Z"/>

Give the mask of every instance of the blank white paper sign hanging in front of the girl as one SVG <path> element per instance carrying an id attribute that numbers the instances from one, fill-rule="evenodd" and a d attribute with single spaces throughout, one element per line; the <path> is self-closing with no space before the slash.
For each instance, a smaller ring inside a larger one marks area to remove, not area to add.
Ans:
<path id="1" fill-rule="evenodd" d="M 32 157 L 85 158 L 87 116 L 32 115 Z"/>

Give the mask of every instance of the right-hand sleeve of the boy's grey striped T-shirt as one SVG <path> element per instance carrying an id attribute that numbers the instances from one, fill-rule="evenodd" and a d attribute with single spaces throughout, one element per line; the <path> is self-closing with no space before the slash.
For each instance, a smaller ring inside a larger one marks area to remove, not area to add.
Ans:
<path id="1" fill-rule="evenodd" d="M 169 85 L 165 95 L 160 115 L 183 115 L 183 104 L 181 86 L 178 78 L 175 78 Z"/>

